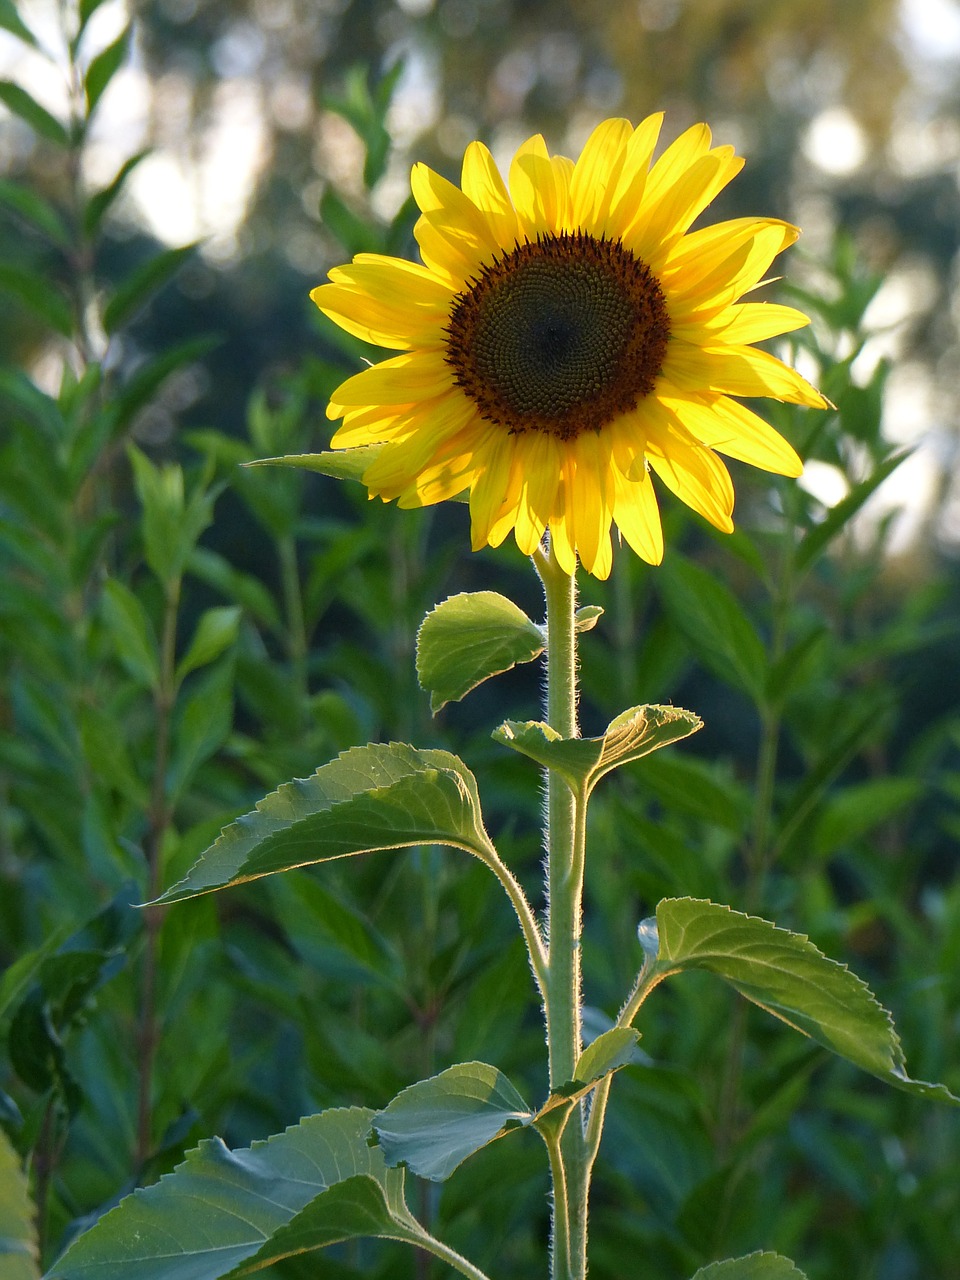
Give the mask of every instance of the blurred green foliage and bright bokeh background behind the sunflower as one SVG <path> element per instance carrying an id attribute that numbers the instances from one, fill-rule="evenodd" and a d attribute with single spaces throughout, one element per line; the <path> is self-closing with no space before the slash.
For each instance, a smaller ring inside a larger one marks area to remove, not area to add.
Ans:
<path id="1" fill-rule="evenodd" d="M 471 556 L 460 507 L 238 467 L 326 443 L 328 392 L 375 353 L 306 293 L 360 248 L 408 252 L 411 157 L 454 175 L 474 136 L 503 156 L 543 129 L 575 152 L 613 113 L 666 108 L 669 136 L 710 120 L 749 159 L 717 216 L 808 233 L 787 265 L 815 312 L 797 358 L 838 406 L 782 415 L 806 484 L 736 474 L 733 538 L 664 500 L 663 568 L 623 554 L 584 586 L 607 611 L 585 730 L 644 700 L 707 721 L 594 805 L 598 1027 L 636 922 L 694 893 L 847 961 L 913 1074 L 956 1089 L 956 5 L 86 0 L 23 5 L 36 46 L 17 13 L 0 4 L 5 74 L 31 95 L 5 90 L 0 119 L 0 1123 L 45 1261 L 210 1133 L 379 1106 L 475 1056 L 543 1089 L 530 978 L 480 867 L 381 854 L 165 918 L 129 905 L 266 790 L 378 739 L 458 751 L 535 890 L 536 780 L 488 735 L 538 713 L 536 676 L 431 721 L 413 672 L 451 593 L 495 586 L 538 616 L 529 567 Z M 641 1256 L 684 1277 L 762 1245 L 812 1280 L 960 1275 L 954 1114 L 695 975 L 643 1030 L 594 1275 Z M 420 1202 L 495 1275 L 544 1258 L 545 1169 L 513 1142 Z M 428 1274 L 387 1247 L 324 1266 Z"/>

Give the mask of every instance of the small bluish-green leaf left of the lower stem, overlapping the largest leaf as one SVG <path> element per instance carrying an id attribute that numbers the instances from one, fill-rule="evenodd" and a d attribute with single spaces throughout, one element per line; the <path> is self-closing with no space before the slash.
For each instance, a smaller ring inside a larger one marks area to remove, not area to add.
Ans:
<path id="1" fill-rule="evenodd" d="M 463 1161 L 534 1114 L 507 1076 L 486 1062 L 458 1062 L 398 1093 L 372 1126 L 388 1165 L 403 1162 L 443 1181 Z"/>

